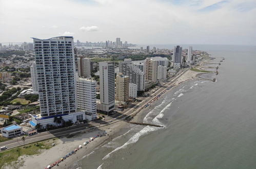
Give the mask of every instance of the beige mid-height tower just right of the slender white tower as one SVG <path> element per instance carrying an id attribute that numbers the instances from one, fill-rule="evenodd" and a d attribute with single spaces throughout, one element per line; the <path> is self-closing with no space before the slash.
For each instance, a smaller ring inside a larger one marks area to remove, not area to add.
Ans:
<path id="1" fill-rule="evenodd" d="M 116 76 L 115 100 L 127 102 L 129 100 L 129 76 L 119 73 Z"/>

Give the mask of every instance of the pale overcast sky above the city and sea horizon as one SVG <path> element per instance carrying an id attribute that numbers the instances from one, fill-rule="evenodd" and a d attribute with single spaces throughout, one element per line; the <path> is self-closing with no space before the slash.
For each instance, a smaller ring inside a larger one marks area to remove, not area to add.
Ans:
<path id="1" fill-rule="evenodd" d="M 256 0 L 0 0 L 0 43 L 71 35 L 134 44 L 256 45 Z"/>

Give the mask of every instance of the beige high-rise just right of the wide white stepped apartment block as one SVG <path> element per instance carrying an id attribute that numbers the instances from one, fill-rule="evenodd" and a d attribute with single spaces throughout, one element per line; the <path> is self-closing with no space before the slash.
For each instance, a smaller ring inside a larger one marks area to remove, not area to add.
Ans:
<path id="1" fill-rule="evenodd" d="M 157 82 L 159 61 L 151 58 L 146 58 L 144 64 L 146 80 Z"/>

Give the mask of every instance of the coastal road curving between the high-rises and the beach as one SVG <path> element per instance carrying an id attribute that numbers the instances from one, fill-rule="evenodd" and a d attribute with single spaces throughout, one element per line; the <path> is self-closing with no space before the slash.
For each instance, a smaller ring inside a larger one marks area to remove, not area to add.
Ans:
<path id="1" fill-rule="evenodd" d="M 50 132 L 42 132 L 42 133 L 38 133 L 38 134 L 33 135 L 33 136 L 26 137 L 25 144 L 29 144 L 29 143 L 33 143 L 33 142 L 37 142 L 37 141 L 42 141 L 42 140 L 46 140 L 46 139 L 51 139 L 51 138 L 55 138 L 55 137 L 61 137 L 61 136 L 69 135 L 71 133 L 78 133 L 78 132 L 82 132 L 82 131 L 88 131 L 88 130 L 91 130 L 91 129 L 94 129 L 94 128 L 99 128 L 101 126 L 105 126 L 105 125 L 109 125 L 111 123 L 118 122 L 120 120 L 124 120 L 127 116 L 138 113 L 142 109 L 144 109 L 145 105 L 150 103 L 159 94 L 161 94 L 162 92 L 167 90 L 168 87 L 172 86 L 174 84 L 175 80 L 180 78 L 188 70 L 189 69 L 185 69 L 183 72 L 178 73 L 178 75 L 176 75 L 176 77 L 174 77 L 170 82 L 168 82 L 166 85 L 164 85 L 163 87 L 158 89 L 156 92 L 152 93 L 149 97 L 147 97 L 147 99 L 143 98 L 144 100 L 142 102 L 137 102 L 134 105 L 134 107 L 136 105 L 141 104 L 137 109 L 128 108 L 125 111 L 123 111 L 122 112 L 123 114 L 121 114 L 120 116 L 108 117 L 108 118 L 106 118 L 105 121 L 103 121 L 105 124 L 97 123 L 95 121 L 95 122 L 89 122 L 88 124 L 78 124 L 76 126 L 71 126 L 69 129 L 62 128 L 62 129 L 52 130 Z M 90 127 L 90 128 L 86 129 L 86 127 L 87 128 Z M 23 145 L 23 141 L 21 141 L 21 137 L 13 138 L 12 140 L 8 140 L 8 141 L 5 141 L 5 142 L 0 142 L 0 146 L 7 146 L 8 147 L 7 150 L 12 149 L 14 147 L 22 146 L 22 145 Z"/>

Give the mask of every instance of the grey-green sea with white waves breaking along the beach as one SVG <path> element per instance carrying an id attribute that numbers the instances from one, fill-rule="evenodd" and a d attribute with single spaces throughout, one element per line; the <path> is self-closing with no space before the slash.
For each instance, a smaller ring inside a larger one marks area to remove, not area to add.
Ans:
<path id="1" fill-rule="evenodd" d="M 182 83 L 143 114 L 163 129 L 131 124 L 74 168 L 256 167 L 256 47 L 192 46 L 225 57 L 216 82 Z"/>

